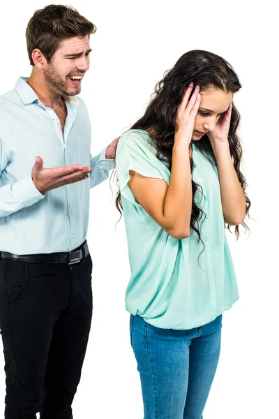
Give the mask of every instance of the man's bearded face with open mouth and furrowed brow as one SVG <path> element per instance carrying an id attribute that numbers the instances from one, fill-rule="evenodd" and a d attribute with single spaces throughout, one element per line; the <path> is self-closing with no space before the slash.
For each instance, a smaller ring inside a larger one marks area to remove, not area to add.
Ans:
<path id="1" fill-rule="evenodd" d="M 89 69 L 89 37 L 75 36 L 62 41 L 44 68 L 45 81 L 54 94 L 75 96 Z"/>

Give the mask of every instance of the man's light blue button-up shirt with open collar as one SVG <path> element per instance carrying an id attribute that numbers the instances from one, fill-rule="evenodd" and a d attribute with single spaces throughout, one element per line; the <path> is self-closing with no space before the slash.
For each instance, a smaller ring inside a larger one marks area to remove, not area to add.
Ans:
<path id="1" fill-rule="evenodd" d="M 19 78 L 0 96 L 0 251 L 16 254 L 72 251 L 86 240 L 90 188 L 107 179 L 114 160 L 90 154 L 91 125 L 82 99 L 66 97 L 59 118 Z M 91 166 L 89 179 L 42 195 L 31 179 L 35 157 L 45 168 Z"/>

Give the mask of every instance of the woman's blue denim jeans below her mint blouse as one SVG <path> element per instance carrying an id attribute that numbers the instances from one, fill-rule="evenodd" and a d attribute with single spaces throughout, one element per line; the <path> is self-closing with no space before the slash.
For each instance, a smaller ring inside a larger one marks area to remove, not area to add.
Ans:
<path id="1" fill-rule="evenodd" d="M 202 419 L 220 354 L 222 316 L 200 328 L 156 328 L 130 316 L 144 419 Z"/>

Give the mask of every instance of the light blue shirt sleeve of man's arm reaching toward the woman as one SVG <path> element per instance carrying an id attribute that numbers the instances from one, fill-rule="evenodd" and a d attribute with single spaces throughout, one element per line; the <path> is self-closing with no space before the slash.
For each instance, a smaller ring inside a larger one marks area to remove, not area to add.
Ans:
<path id="1" fill-rule="evenodd" d="M 95 157 L 90 155 L 90 166 L 92 168 L 92 172 L 90 174 L 91 188 L 100 184 L 101 182 L 104 182 L 104 180 L 109 177 L 110 170 L 114 168 L 115 160 L 105 158 L 106 150 L 107 147 L 105 147 L 103 151 Z"/>

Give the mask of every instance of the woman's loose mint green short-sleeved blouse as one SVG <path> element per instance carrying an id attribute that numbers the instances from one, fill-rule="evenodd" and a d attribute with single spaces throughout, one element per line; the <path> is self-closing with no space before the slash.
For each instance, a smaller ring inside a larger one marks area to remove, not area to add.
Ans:
<path id="1" fill-rule="evenodd" d="M 203 191 L 197 189 L 195 202 L 205 213 L 199 223 L 205 249 L 193 230 L 185 239 L 167 234 L 137 202 L 127 184 L 129 170 L 169 184 L 169 169 L 157 159 L 149 133 L 126 131 L 117 146 L 116 172 L 131 270 L 126 309 L 158 328 L 196 328 L 213 321 L 239 298 L 225 235 L 218 169 L 199 152 L 195 142 L 192 146 L 192 177 Z"/>

